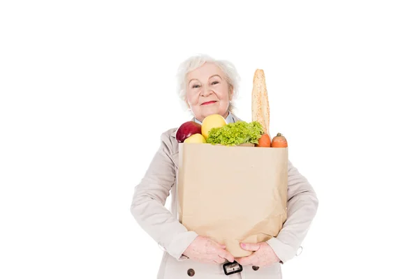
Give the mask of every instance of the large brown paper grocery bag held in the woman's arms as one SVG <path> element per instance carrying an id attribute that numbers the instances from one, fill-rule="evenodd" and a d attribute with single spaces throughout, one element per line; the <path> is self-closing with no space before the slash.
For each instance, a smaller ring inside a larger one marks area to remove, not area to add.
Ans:
<path id="1" fill-rule="evenodd" d="M 287 185 L 288 148 L 179 144 L 179 221 L 234 257 L 252 253 L 240 242 L 278 235 Z"/>

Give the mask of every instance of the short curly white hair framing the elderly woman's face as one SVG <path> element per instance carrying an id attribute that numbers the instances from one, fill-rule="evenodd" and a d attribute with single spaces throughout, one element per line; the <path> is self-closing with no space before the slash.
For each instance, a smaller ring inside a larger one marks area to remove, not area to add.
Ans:
<path id="1" fill-rule="evenodd" d="M 233 63 L 226 60 L 216 60 L 207 54 L 198 54 L 191 56 L 182 63 L 180 63 L 177 70 L 177 93 L 181 100 L 182 107 L 184 110 L 188 110 L 187 101 L 186 101 L 186 75 L 191 71 L 203 66 L 205 62 L 214 63 L 216 66 L 219 66 L 226 75 L 226 80 L 230 88 L 233 88 L 233 98 L 230 100 L 230 105 L 228 110 L 230 112 L 235 111 L 234 99 L 237 98 L 237 92 L 239 89 L 240 75 L 237 73 L 237 70 Z"/>

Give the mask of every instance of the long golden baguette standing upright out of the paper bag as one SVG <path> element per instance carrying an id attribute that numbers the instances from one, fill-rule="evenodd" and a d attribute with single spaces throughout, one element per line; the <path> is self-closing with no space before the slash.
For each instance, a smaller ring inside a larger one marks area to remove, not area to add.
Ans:
<path id="1" fill-rule="evenodd" d="M 263 127 L 263 132 L 267 135 L 270 135 L 270 108 L 269 100 L 267 98 L 265 73 L 260 69 L 257 69 L 253 76 L 253 91 L 251 93 L 251 120 L 258 121 Z"/>

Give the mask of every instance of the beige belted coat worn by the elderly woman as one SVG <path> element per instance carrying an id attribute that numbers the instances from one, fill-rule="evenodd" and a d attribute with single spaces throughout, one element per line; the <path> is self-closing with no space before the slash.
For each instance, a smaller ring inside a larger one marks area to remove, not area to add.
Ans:
<path id="1" fill-rule="evenodd" d="M 239 120 L 233 114 L 233 121 Z M 176 130 L 172 128 L 161 135 L 161 146 L 144 178 L 135 187 L 131 204 L 135 220 L 165 250 L 156 278 L 281 278 L 280 263 L 260 269 L 243 266 L 241 273 L 226 276 L 221 264 L 200 264 L 182 255 L 197 234 L 188 232 L 177 220 L 175 193 L 179 150 Z M 164 206 L 169 195 L 172 197 L 171 212 Z M 292 259 L 300 248 L 318 207 L 316 193 L 291 162 L 288 162 L 287 207 L 288 219 L 284 227 L 276 238 L 267 241 L 283 263 Z"/>

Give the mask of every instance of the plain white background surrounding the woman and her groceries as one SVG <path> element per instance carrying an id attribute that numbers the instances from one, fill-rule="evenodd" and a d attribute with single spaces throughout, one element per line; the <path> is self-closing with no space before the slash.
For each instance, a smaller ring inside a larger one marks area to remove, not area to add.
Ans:
<path id="1" fill-rule="evenodd" d="M 1 1 L 0 278 L 155 278 L 129 211 L 183 59 L 235 63 L 318 193 L 284 278 L 418 278 L 416 1 Z M 166 204 L 167 205 L 167 204 Z"/>

